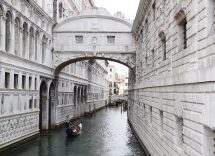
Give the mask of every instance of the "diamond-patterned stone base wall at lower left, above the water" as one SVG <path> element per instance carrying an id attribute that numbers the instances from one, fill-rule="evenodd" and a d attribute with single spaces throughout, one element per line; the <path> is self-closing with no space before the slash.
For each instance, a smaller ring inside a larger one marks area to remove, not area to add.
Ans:
<path id="1" fill-rule="evenodd" d="M 39 133 L 39 112 L 0 118 L 0 149 Z"/>

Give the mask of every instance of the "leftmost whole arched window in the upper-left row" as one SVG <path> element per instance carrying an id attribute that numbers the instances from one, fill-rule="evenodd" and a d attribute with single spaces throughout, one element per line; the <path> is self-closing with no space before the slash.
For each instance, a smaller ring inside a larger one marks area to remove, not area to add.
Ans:
<path id="1" fill-rule="evenodd" d="M 8 52 L 10 50 L 10 44 L 11 44 L 11 21 L 12 21 L 12 15 L 8 11 L 6 13 L 6 25 L 5 25 L 5 50 Z"/>

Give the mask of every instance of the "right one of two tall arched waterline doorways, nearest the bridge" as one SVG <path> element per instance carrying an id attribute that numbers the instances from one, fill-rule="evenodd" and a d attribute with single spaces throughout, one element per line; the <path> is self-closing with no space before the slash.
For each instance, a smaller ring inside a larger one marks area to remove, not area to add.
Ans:
<path id="1" fill-rule="evenodd" d="M 55 85 L 52 82 L 49 88 L 49 129 L 55 128 L 56 124 L 56 96 Z"/>

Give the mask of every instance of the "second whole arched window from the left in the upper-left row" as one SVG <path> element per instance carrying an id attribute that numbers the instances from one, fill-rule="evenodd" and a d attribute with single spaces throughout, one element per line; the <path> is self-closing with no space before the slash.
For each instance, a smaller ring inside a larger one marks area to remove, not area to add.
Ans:
<path id="1" fill-rule="evenodd" d="M 15 55 L 19 55 L 20 49 L 20 20 L 15 19 Z"/>

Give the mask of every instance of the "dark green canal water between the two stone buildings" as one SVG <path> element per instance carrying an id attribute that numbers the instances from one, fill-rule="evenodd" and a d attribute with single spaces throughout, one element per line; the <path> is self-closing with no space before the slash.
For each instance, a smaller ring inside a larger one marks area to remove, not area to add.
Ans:
<path id="1" fill-rule="evenodd" d="M 68 138 L 64 127 L 48 136 L 23 145 L 12 156 L 144 156 L 127 121 L 127 112 L 119 108 L 98 111 L 83 118 L 79 136 Z"/>

